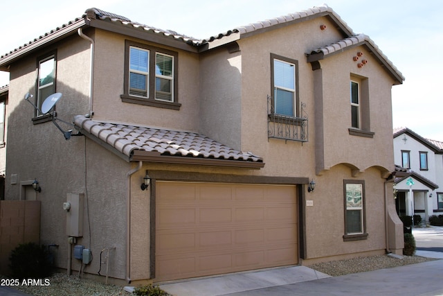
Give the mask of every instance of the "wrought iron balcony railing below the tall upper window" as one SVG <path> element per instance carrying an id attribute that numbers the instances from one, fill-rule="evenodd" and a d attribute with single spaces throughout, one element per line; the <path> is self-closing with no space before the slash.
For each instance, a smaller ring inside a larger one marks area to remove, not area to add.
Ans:
<path id="1" fill-rule="evenodd" d="M 300 117 L 275 114 L 273 97 L 268 96 L 268 139 L 308 141 L 308 120 L 305 103 L 300 104 Z"/>

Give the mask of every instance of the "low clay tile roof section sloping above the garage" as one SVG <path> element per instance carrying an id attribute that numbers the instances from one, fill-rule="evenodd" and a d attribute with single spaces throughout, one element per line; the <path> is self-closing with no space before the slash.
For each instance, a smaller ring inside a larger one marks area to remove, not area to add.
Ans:
<path id="1" fill-rule="evenodd" d="M 134 150 L 160 155 L 200 157 L 262 163 L 262 157 L 241 152 L 195 132 L 145 128 L 118 123 L 100 123 L 85 116 L 74 117 L 83 134 L 94 137 L 131 159 Z"/>

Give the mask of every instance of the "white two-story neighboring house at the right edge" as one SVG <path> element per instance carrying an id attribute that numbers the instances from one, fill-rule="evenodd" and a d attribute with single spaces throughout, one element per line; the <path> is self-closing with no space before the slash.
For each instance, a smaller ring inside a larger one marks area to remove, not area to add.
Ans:
<path id="1" fill-rule="evenodd" d="M 419 215 L 426 223 L 429 216 L 440 215 L 443 212 L 443 142 L 425 139 L 409 128 L 396 128 L 394 155 L 395 164 L 410 171 L 395 185 L 399 216 Z"/>

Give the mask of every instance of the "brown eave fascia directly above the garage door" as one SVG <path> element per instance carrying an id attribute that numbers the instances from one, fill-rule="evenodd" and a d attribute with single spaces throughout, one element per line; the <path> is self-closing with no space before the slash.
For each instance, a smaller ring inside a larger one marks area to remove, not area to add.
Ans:
<path id="1" fill-rule="evenodd" d="M 264 167 L 264 162 L 249 162 L 244 160 L 231 159 L 209 159 L 201 157 L 182 157 L 182 156 L 168 156 L 151 153 L 145 150 L 133 150 L 131 161 L 134 162 L 152 162 L 161 164 L 188 164 L 199 166 L 221 166 L 229 168 L 248 168 L 260 169 Z"/>

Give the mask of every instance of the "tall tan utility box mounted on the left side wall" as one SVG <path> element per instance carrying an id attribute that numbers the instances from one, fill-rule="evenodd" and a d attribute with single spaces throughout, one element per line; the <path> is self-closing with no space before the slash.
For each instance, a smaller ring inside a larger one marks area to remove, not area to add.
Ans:
<path id="1" fill-rule="evenodd" d="M 83 193 L 68 193 L 63 208 L 66 212 L 66 235 L 83 236 Z"/>

